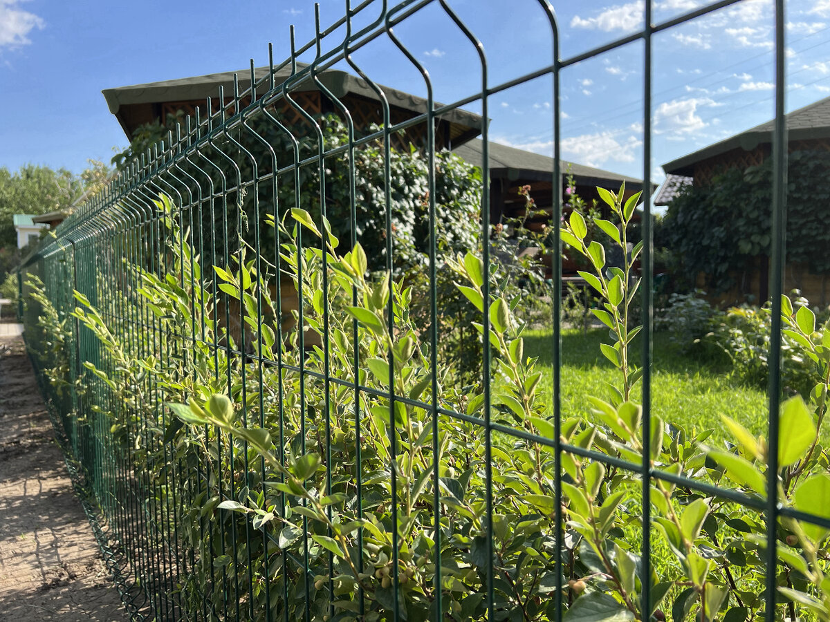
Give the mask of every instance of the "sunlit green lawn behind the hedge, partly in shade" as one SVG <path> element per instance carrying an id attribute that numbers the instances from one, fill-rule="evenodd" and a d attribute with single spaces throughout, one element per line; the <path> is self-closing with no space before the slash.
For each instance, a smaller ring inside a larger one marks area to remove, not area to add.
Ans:
<path id="1" fill-rule="evenodd" d="M 620 382 L 620 372 L 603 357 L 600 343 L 611 343 L 605 329 L 567 330 L 562 338 L 562 412 L 565 417 L 589 414 L 587 396 L 608 401 L 611 391 L 607 382 Z M 641 359 L 642 342 L 638 339 L 630 349 L 632 360 Z M 525 355 L 539 357 L 546 369 L 542 382 L 548 395 L 553 395 L 553 333 L 525 333 Z M 740 379 L 722 357 L 710 360 L 686 356 L 669 343 L 666 333 L 657 333 L 653 340 L 652 413 L 664 421 L 680 423 L 686 430 L 714 429 L 711 441 L 728 440 L 720 415 L 739 421 L 754 435 L 764 435 L 767 421 L 767 398 L 758 386 Z M 635 401 L 641 400 L 637 386 Z M 589 415 L 590 416 L 590 415 Z M 711 442 L 710 441 L 710 442 Z"/>

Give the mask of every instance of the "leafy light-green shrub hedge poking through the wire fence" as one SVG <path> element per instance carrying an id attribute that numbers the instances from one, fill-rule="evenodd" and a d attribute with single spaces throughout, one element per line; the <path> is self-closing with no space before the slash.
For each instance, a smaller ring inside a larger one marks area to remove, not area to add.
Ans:
<path id="1" fill-rule="evenodd" d="M 621 225 L 594 224 L 626 249 L 638 198 L 599 193 Z M 249 310 L 257 356 L 277 363 L 249 365 L 212 319 L 213 276 L 191 254 L 169 198 L 157 205 L 169 232 L 167 270 L 133 266 L 140 299 L 109 304 L 146 305 L 164 341 L 110 325 L 105 318 L 116 314 L 81 293 L 72 315 L 111 361 L 108 370 L 85 363 L 85 381 L 100 385 L 89 399 L 102 396 L 94 405 L 130 464 L 164 483 L 146 492 L 183 503 L 174 544 L 187 571 L 176 594 L 184 610 L 207 604 L 217 612 L 230 597 L 247 609 L 240 617 L 256 620 L 266 612 L 300 620 L 306 611 L 315 619 L 388 620 L 396 608 L 408 622 L 554 620 L 561 595 L 569 622 L 665 619 L 666 598 L 675 622 L 714 620 L 721 611 L 737 621 L 770 605 L 763 586 L 774 572 L 792 620 L 796 608 L 830 618 L 828 530 L 782 513 L 773 532 L 778 565 L 764 566 L 766 525 L 754 509 L 765 507 L 764 440 L 732 420 L 725 425 L 735 443 L 724 448 L 707 447 L 710 432 L 684 421 L 652 415 L 650 427 L 642 425 L 642 368 L 629 352 L 640 331 L 629 326 L 639 284 L 631 266 L 642 244 L 623 253 L 623 266 L 609 267 L 603 245 L 586 240 L 579 211 L 564 223 L 562 239 L 592 266 L 581 274 L 603 300 L 592 313 L 609 329 L 613 343 L 602 351 L 615 372 L 609 401 L 592 397 L 591 413 L 555 420 L 541 372 L 524 354 L 524 325 L 504 294 L 486 297 L 495 267 L 475 253 L 447 265 L 489 319 L 476 326 L 497 355 L 489 385 L 460 387 L 432 367 L 430 339 L 409 313 L 412 290 L 388 272 L 370 278 L 361 245 L 341 254 L 328 221 L 296 209 L 293 224 L 272 218 L 271 225 L 281 231 L 281 268 L 305 293 L 295 324 L 305 332 L 284 333 L 268 319 L 281 314 L 261 295 L 274 275 L 260 258 L 243 253 L 214 269 L 218 288 Z M 318 246 L 298 247 L 297 231 Z M 782 320 L 816 364 L 817 384 L 781 411 L 779 502 L 826 520 L 828 456 L 818 439 L 830 332 L 789 299 Z M 306 334 L 322 345 L 304 347 Z M 212 347 L 225 338 L 228 348 Z M 186 352 L 187 362 L 164 352 Z M 159 403 L 178 418 L 168 420 Z M 652 551 L 661 555 L 648 575 L 638 554 L 643 464 L 662 475 L 649 480 Z M 732 498 L 752 503 L 726 501 L 699 484 L 729 487 Z M 153 513 L 162 505 L 143 507 Z M 160 512 L 149 518 L 171 520 Z M 652 598 L 643 609 L 646 582 Z"/>

